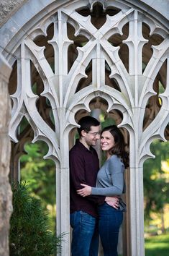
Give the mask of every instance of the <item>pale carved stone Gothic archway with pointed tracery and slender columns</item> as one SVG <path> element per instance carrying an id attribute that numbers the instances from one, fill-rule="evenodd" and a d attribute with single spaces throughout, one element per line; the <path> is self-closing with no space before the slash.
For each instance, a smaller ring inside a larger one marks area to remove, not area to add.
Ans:
<path id="1" fill-rule="evenodd" d="M 101 24 L 94 14 L 91 19 L 88 16 L 96 6 L 96 14 L 102 10 Z M 24 15 L 27 10 L 29 15 Z M 17 127 L 25 116 L 34 141 L 47 142 L 47 157 L 56 163 L 58 233 L 69 230 L 68 134 L 77 126 L 75 114 L 82 108 L 89 111 L 94 98 L 107 101 L 109 114 L 122 112 L 120 126 L 130 136 L 127 255 L 131 256 L 144 255 L 142 163 L 152 156 L 150 142 L 164 140 L 169 119 L 168 24 L 165 16 L 158 18 L 161 14 L 143 1 L 43 1 L 37 5 L 28 1 L 0 31 L 2 52 L 17 74 L 9 135 L 17 142 Z M 157 45 L 150 40 L 153 34 L 163 38 Z M 147 102 L 158 93 L 159 80 L 165 90 L 157 98 L 163 103 L 146 122 L 146 111 L 154 113 Z M 42 85 L 40 93 L 33 92 L 33 81 L 37 87 Z M 55 129 L 39 111 L 41 97 L 50 102 Z M 69 242 L 63 243 L 62 255 L 69 252 Z"/>

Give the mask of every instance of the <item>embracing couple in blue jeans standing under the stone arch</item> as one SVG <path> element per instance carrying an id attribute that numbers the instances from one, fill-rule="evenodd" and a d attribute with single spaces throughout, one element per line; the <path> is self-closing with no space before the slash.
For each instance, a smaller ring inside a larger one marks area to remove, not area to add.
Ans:
<path id="1" fill-rule="evenodd" d="M 98 256 L 99 236 L 104 256 L 117 256 L 119 227 L 123 220 L 124 170 L 129 163 L 122 132 L 115 125 L 100 133 L 92 116 L 78 122 L 79 140 L 70 150 L 71 255 Z M 100 139 L 106 161 L 99 169 L 93 148 Z"/>

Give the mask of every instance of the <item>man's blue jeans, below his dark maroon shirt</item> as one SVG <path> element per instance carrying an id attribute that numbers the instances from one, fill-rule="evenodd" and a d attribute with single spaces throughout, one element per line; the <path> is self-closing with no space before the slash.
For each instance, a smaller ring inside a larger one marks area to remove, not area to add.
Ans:
<path id="1" fill-rule="evenodd" d="M 72 256 L 98 256 L 99 231 L 96 218 L 76 211 L 70 214 L 70 225 L 73 228 Z"/>

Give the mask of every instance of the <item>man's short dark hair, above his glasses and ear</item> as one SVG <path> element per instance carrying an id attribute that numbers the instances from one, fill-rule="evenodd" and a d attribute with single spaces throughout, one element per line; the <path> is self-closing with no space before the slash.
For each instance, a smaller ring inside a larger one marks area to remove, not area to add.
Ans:
<path id="1" fill-rule="evenodd" d="M 94 118 L 93 116 L 83 116 L 78 124 L 81 126 L 78 128 L 78 134 L 81 137 L 81 131 L 84 130 L 86 132 L 90 132 L 91 127 L 98 127 L 100 122 Z"/>

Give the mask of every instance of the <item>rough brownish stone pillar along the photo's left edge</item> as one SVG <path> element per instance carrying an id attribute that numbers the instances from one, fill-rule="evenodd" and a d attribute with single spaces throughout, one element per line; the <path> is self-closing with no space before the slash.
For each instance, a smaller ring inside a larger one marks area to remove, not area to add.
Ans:
<path id="1" fill-rule="evenodd" d="M 9 220 L 12 213 L 12 189 L 8 177 L 11 151 L 8 136 L 11 112 L 8 81 L 11 70 L 0 55 L 0 256 L 9 255 Z"/>

